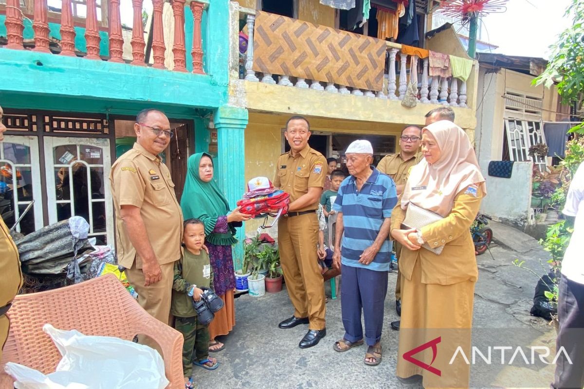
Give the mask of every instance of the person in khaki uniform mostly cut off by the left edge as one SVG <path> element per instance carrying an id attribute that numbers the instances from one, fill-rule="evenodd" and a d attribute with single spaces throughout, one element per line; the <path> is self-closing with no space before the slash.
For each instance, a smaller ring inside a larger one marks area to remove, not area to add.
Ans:
<path id="1" fill-rule="evenodd" d="M 2 107 L 0 107 L 0 142 L 4 141 L 6 127 L 2 124 Z M 12 241 L 8 227 L 0 218 L 0 359 L 2 359 L 2 347 L 8 338 L 10 321 L 6 312 L 10 308 L 12 299 L 18 294 L 22 286 L 22 273 L 18 250 Z"/>

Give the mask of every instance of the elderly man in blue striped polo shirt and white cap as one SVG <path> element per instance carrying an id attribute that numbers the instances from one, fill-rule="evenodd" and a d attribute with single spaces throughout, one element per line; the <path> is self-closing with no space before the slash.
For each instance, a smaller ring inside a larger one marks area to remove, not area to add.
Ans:
<path id="1" fill-rule="evenodd" d="M 338 212 L 333 263 L 336 268 L 341 268 L 345 336 L 335 342 L 334 349 L 343 352 L 363 344 L 363 310 L 364 338 L 368 346 L 364 363 L 379 365 L 387 273 L 390 270 L 391 242 L 388 236 L 397 193 L 389 176 L 370 167 L 373 147 L 369 141 L 354 141 L 345 156 L 351 175 L 340 185 L 332 207 Z"/>

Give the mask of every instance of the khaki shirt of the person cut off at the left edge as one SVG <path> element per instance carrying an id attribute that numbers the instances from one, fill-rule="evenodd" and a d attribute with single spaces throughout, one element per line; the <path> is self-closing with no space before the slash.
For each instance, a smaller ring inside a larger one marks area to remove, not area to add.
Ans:
<path id="1" fill-rule="evenodd" d="M 16 244 L 2 218 L 0 218 L 0 285 L 0 307 L 4 307 L 18 294 L 22 286 L 22 272 Z"/>

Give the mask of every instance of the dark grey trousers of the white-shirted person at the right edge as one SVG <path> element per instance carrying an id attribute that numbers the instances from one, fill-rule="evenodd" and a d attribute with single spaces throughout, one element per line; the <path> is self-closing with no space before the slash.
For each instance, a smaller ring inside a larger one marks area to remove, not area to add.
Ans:
<path id="1" fill-rule="evenodd" d="M 556 352 L 564 347 L 555 366 L 552 388 L 584 387 L 584 285 L 562 275 L 558 291 L 559 330 Z"/>

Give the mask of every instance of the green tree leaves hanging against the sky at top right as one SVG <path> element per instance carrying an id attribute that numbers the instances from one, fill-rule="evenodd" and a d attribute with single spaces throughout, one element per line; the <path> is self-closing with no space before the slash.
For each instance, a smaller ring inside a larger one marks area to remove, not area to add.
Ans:
<path id="1" fill-rule="evenodd" d="M 551 45 L 550 62 L 534 83 L 550 87 L 559 81 L 558 93 L 564 103 L 569 103 L 578 101 L 584 91 L 584 2 L 572 0 L 565 15 L 572 17 L 572 26 L 562 31 L 558 42 Z"/>

